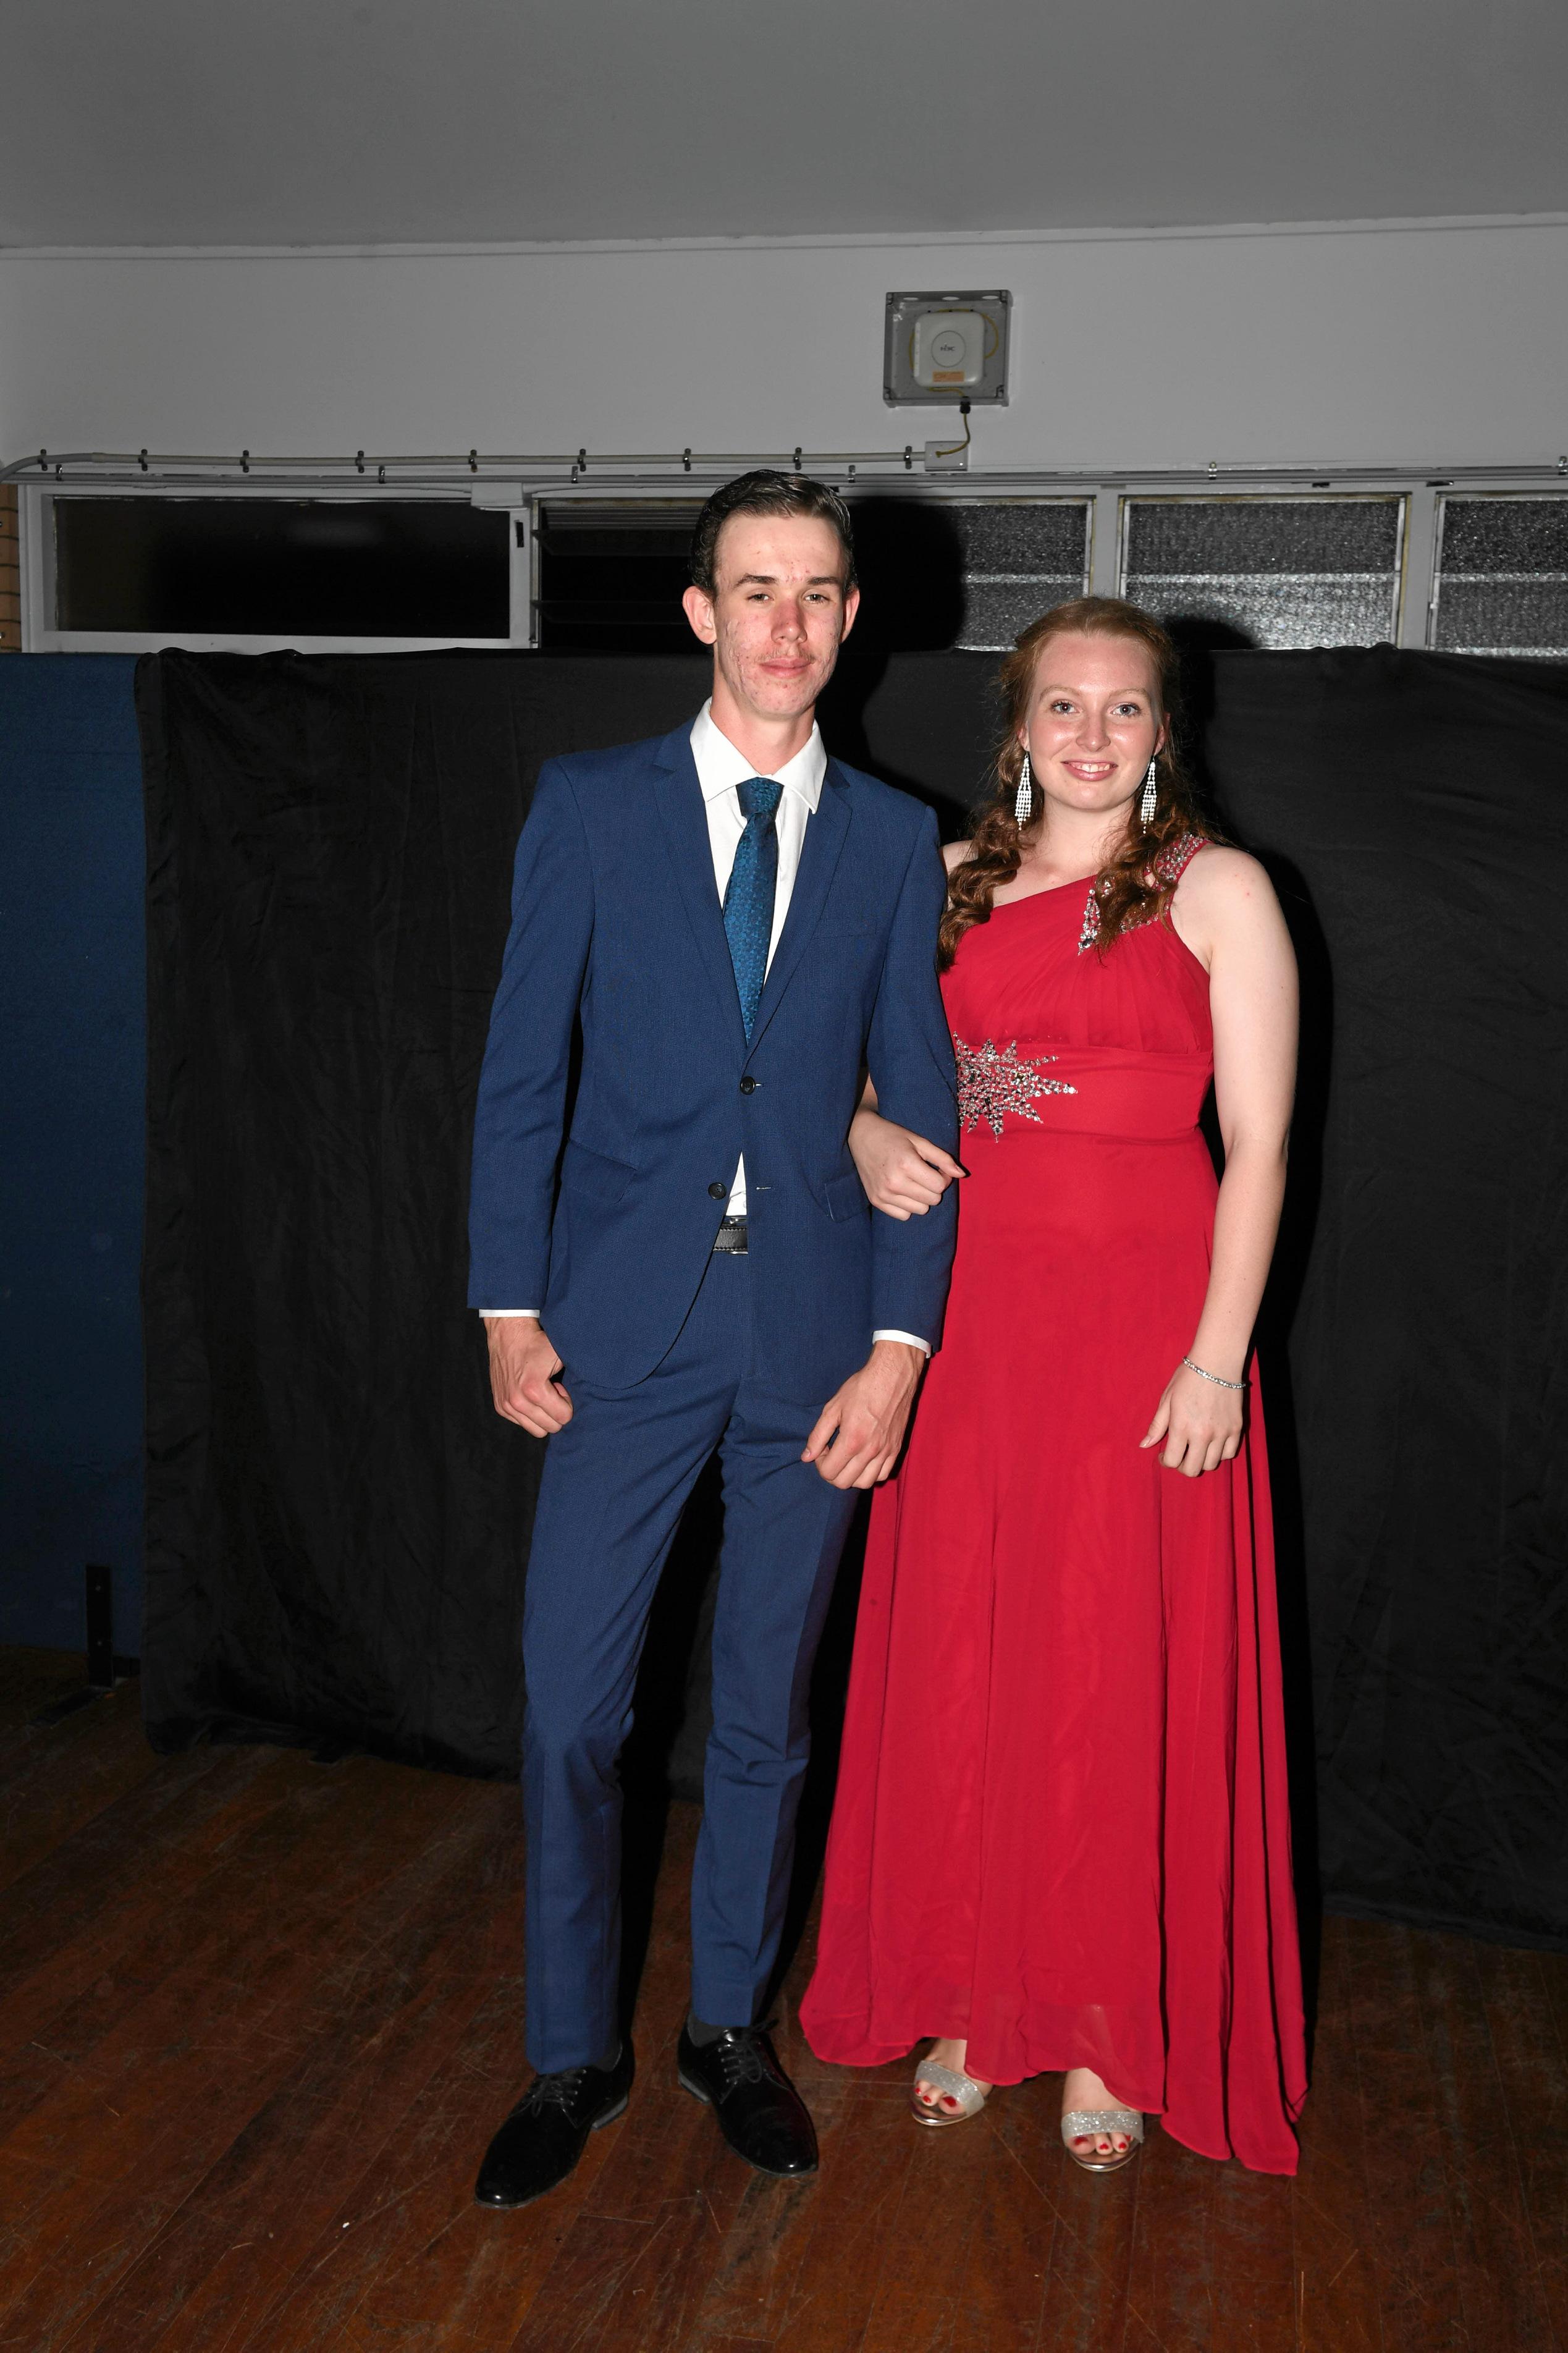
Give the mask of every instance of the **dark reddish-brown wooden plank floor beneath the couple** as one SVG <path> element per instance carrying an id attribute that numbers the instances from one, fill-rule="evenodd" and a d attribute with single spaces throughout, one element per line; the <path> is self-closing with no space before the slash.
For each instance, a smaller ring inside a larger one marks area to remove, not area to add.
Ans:
<path id="1" fill-rule="evenodd" d="M 1055 2078 L 956 2132 L 906 2068 L 782 2047 L 815 2184 L 671 2089 L 695 1812 L 673 1807 L 624 2122 L 471 2202 L 523 2085 L 511 1788 L 299 1751 L 153 1758 L 137 1689 L 0 1654 L 7 2353 L 1460 2353 L 1568 2337 L 1568 1958 L 1328 1920 L 1295 2184 L 1158 2129 L 1111 2179 Z M 810 1946 L 810 1937 L 808 1937 Z"/>

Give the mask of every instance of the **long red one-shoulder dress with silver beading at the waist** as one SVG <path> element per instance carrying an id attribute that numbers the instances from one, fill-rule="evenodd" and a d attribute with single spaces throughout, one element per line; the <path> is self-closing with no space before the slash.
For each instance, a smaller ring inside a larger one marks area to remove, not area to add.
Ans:
<path id="1" fill-rule="evenodd" d="M 968 2038 L 991 2082 L 1088 2066 L 1201 2155 L 1288 2174 L 1307 2066 L 1257 1391 L 1198 1480 L 1137 1445 L 1208 1285 L 1208 974 L 1168 922 L 1085 936 L 1078 887 L 1017 899 L 944 981 L 970 1174 L 871 1513 L 800 2024 L 850 2066 L 923 2035 Z"/>

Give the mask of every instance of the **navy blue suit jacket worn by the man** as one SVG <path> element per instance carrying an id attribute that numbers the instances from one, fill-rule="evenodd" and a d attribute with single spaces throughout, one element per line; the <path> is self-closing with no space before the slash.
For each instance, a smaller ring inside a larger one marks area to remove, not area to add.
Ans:
<path id="1" fill-rule="evenodd" d="M 873 1329 L 935 1346 L 954 1188 L 873 1214 L 845 1139 L 866 1066 L 890 1120 L 956 1148 L 942 896 L 930 809 L 829 760 L 746 1042 L 690 729 L 551 760 L 490 1014 L 469 1304 L 542 1308 L 567 1384 L 633 1388 L 697 1297 L 744 1153 L 779 1393 L 822 1405 Z"/>

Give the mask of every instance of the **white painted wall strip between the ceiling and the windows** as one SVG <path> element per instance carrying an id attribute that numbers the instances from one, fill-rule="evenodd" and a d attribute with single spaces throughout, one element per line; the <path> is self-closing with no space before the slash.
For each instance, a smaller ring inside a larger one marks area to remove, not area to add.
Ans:
<path id="1" fill-rule="evenodd" d="M 979 468 L 1540 464 L 1568 224 L 386 254 L 0 254 L 0 447 L 890 447 L 892 287 L 1005 285 Z"/>

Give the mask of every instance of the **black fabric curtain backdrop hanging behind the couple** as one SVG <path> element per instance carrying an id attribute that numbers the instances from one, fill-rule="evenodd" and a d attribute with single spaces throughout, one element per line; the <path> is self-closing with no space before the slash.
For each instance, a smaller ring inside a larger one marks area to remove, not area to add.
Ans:
<path id="1" fill-rule="evenodd" d="M 869 649 L 829 744 L 961 831 L 994 668 Z M 1307 1887 L 1316 1842 L 1333 1908 L 1568 1944 L 1568 678 L 1377 647 L 1194 687 L 1304 976 L 1262 1388 Z M 155 1746 L 513 1772 L 539 1447 L 464 1308 L 511 852 L 549 753 L 704 692 L 657 656 L 141 664 Z"/>

